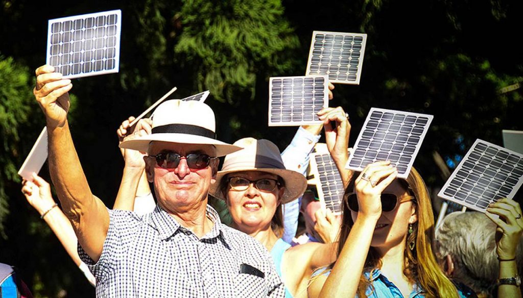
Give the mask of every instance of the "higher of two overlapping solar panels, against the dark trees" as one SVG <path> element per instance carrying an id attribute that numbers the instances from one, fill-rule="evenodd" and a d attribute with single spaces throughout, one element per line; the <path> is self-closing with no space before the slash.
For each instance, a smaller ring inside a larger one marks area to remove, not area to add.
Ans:
<path id="1" fill-rule="evenodd" d="M 359 85 L 367 34 L 314 31 L 306 75 Z"/>

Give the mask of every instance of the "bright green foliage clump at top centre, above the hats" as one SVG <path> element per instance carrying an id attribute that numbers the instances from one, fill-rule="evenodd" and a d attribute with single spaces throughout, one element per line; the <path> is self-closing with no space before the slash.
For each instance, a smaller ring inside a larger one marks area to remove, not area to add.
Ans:
<path id="1" fill-rule="evenodd" d="M 180 10 L 182 32 L 174 47 L 176 63 L 190 64 L 198 89 L 215 99 L 254 98 L 258 75 L 290 70 L 286 51 L 298 46 L 278 0 L 186 1 Z"/>

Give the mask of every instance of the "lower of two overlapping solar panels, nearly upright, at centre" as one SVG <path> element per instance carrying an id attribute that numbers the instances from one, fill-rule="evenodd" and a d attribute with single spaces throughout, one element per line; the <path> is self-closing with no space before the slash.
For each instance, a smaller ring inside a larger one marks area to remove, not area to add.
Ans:
<path id="1" fill-rule="evenodd" d="M 269 126 L 321 124 L 328 105 L 326 76 L 273 77 L 269 81 Z"/>

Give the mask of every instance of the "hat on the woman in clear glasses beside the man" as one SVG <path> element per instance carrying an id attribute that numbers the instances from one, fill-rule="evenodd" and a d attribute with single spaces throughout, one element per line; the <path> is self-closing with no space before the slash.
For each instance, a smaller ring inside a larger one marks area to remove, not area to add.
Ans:
<path id="1" fill-rule="evenodd" d="M 243 147 L 243 150 L 228 154 L 223 161 L 222 170 L 218 172 L 216 183 L 211 185 L 209 193 L 217 198 L 225 199 L 221 192 L 226 175 L 243 172 L 258 171 L 280 176 L 285 182 L 285 192 L 281 197 L 282 204 L 290 202 L 305 192 L 307 180 L 295 171 L 285 169 L 280 156 L 280 150 L 271 141 L 254 138 L 237 140 L 234 146 Z"/>

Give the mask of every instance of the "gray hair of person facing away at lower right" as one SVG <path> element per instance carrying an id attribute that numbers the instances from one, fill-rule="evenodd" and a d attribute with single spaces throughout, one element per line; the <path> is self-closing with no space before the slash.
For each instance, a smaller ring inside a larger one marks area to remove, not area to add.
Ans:
<path id="1" fill-rule="evenodd" d="M 499 272 L 496 253 L 497 225 L 480 212 L 452 212 L 435 232 L 435 252 L 439 260 L 452 257 L 452 279 L 468 285 L 474 292 L 492 296 Z M 516 258 L 523 265 L 523 238 Z"/>

